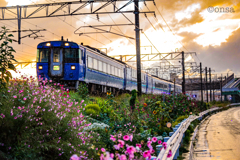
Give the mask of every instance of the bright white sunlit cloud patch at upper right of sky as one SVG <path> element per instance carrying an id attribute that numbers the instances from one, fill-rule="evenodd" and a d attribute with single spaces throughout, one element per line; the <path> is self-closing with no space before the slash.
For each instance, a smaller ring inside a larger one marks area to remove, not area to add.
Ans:
<path id="1" fill-rule="evenodd" d="M 199 34 L 193 41 L 205 46 L 220 46 L 226 42 L 232 32 L 239 29 L 240 20 L 230 19 L 231 13 L 209 13 L 204 10 L 200 15 L 204 18 L 201 23 L 181 28 L 179 32 L 193 32 Z M 224 17 L 224 18 L 223 18 Z"/>

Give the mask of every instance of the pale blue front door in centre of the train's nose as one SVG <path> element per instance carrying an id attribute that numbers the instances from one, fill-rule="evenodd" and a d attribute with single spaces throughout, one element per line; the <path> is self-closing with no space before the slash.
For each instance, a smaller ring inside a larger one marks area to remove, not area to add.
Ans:
<path id="1" fill-rule="evenodd" d="M 50 55 L 50 75 L 53 77 L 63 76 L 63 50 L 53 48 Z"/>

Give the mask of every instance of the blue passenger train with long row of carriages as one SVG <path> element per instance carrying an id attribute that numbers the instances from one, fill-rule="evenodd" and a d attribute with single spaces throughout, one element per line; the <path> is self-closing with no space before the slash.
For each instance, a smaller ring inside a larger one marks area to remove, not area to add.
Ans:
<path id="1" fill-rule="evenodd" d="M 69 89 L 87 84 L 90 94 L 129 93 L 137 90 L 137 69 L 97 48 L 68 40 L 46 41 L 37 46 L 37 77 L 58 82 Z M 173 82 L 141 71 L 142 93 L 170 94 Z M 175 93 L 181 93 L 175 85 Z"/>

